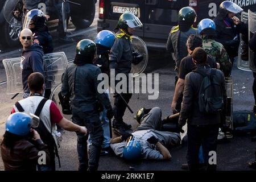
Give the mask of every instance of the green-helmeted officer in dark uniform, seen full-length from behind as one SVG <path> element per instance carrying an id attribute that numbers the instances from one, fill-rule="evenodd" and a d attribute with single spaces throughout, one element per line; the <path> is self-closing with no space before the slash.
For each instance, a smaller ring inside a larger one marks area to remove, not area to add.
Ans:
<path id="1" fill-rule="evenodd" d="M 113 117 L 113 110 L 108 94 L 98 92 L 97 79 L 100 68 L 93 64 L 96 55 L 96 44 L 92 40 L 83 39 L 76 46 L 76 57 L 73 63 L 68 64 L 63 76 L 61 94 L 70 96 L 73 122 L 86 126 L 92 144 L 87 152 L 88 135 L 77 133 L 77 152 L 79 155 L 79 170 L 97 170 L 100 150 L 103 141 L 103 130 L 100 121 L 101 105 L 107 109 L 107 117 Z"/>

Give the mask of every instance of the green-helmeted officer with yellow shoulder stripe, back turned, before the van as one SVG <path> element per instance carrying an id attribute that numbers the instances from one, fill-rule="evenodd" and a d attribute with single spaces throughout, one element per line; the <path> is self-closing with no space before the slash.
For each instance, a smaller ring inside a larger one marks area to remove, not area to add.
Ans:
<path id="1" fill-rule="evenodd" d="M 183 7 L 178 14 L 178 25 L 172 27 L 166 43 L 166 49 L 174 53 L 175 70 L 179 73 L 179 65 L 181 59 L 188 55 L 187 39 L 191 34 L 197 34 L 196 28 L 193 28 L 193 23 L 196 21 L 196 12 L 192 7 Z M 177 76 L 175 77 L 176 85 Z"/>

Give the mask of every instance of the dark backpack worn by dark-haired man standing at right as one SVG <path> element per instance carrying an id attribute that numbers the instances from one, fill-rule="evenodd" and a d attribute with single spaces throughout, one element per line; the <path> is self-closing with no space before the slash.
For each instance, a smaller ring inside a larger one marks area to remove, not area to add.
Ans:
<path id="1" fill-rule="evenodd" d="M 203 77 L 199 90 L 199 110 L 202 113 L 220 113 L 224 109 L 223 92 L 221 85 L 216 77 L 216 69 L 210 70 L 207 75 L 200 69 L 195 69 Z"/>

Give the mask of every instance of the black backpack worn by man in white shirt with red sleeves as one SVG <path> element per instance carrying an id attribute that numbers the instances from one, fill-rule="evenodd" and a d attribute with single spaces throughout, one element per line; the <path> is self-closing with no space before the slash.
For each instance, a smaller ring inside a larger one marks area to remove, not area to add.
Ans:
<path id="1" fill-rule="evenodd" d="M 46 104 L 47 98 L 43 98 L 42 101 L 40 101 L 38 107 L 36 108 L 35 111 L 35 115 L 39 117 L 44 104 Z M 19 102 L 15 103 L 16 108 L 18 109 L 18 111 L 20 112 L 24 112 L 23 107 L 19 104 Z M 52 124 L 52 123 L 51 123 Z M 46 126 L 44 126 L 44 123 L 41 121 L 39 122 L 39 125 L 37 128 L 35 128 L 36 131 L 38 131 L 40 138 L 42 139 L 42 141 L 47 144 L 48 150 L 49 150 L 49 155 L 51 158 L 51 166 L 55 166 L 55 161 L 54 161 L 54 157 L 56 155 L 57 159 L 59 160 L 59 167 L 60 167 L 60 157 L 59 157 L 59 152 L 58 152 L 58 148 L 56 145 L 56 142 L 54 140 L 54 138 L 52 137 L 52 134 L 49 133 L 49 131 L 46 129 Z M 52 127 L 51 127 L 52 130 Z"/>

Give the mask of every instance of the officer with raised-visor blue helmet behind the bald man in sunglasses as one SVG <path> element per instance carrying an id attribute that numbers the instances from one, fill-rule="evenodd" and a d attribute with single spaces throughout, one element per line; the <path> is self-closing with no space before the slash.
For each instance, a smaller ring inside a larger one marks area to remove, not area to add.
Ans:
<path id="1" fill-rule="evenodd" d="M 33 32 L 34 43 L 43 47 L 44 53 L 53 52 L 52 36 L 46 26 L 46 16 L 41 10 L 30 10 L 24 20 L 23 28 Z"/>

